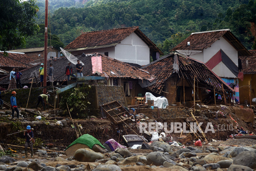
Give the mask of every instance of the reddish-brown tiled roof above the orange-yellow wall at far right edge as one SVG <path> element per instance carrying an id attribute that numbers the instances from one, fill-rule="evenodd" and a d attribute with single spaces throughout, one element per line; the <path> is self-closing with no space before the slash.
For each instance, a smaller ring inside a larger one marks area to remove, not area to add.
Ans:
<path id="1" fill-rule="evenodd" d="M 250 56 L 239 57 L 242 61 L 242 70 L 244 74 L 256 74 L 256 50 L 249 50 Z M 246 60 L 248 60 L 248 68 L 246 68 Z"/>

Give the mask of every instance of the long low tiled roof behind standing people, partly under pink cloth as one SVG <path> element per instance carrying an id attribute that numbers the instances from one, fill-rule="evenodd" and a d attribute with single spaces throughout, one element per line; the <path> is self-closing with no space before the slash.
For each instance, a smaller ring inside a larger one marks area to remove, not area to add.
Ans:
<path id="1" fill-rule="evenodd" d="M 150 79 L 151 76 L 146 71 L 138 69 L 136 67 L 130 66 L 125 62 L 118 61 L 116 59 L 109 58 L 103 54 L 93 53 L 92 55 L 101 55 L 102 60 L 102 71 L 105 72 L 110 78 L 134 78 L 134 79 Z M 91 56 L 87 55 L 85 57 L 79 57 L 80 61 L 82 61 L 85 65 L 83 68 L 83 75 L 84 76 L 91 76 L 92 75 L 92 62 Z M 47 68 L 49 68 L 49 63 L 52 61 L 53 70 L 53 80 L 54 81 L 65 81 L 67 76 L 65 76 L 65 67 L 68 65 L 67 58 L 57 58 L 53 60 L 47 61 Z M 76 73 L 76 67 L 74 64 L 71 64 L 73 68 L 73 73 Z M 22 83 L 31 83 L 31 74 L 35 73 L 37 77 L 37 81 L 39 81 L 38 74 L 39 74 L 40 64 L 27 68 L 25 70 L 20 71 L 23 76 L 21 78 Z M 114 74 L 112 74 L 113 72 Z M 102 77 L 105 77 L 104 73 L 101 74 Z M 1 84 L 9 84 L 9 77 L 6 76 L 0 79 Z M 48 79 L 47 79 L 48 80 Z"/>

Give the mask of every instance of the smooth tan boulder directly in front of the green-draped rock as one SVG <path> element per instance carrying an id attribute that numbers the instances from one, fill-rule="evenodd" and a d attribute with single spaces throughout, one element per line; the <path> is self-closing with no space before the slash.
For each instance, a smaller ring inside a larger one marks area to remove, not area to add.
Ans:
<path id="1" fill-rule="evenodd" d="M 82 162 L 94 162 L 96 159 L 103 159 L 104 157 L 103 154 L 96 153 L 88 148 L 78 149 L 74 154 L 74 158 Z"/>

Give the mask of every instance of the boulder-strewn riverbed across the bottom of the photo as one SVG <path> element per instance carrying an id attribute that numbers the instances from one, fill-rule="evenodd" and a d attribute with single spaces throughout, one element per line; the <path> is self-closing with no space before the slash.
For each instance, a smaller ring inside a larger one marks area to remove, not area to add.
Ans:
<path id="1" fill-rule="evenodd" d="M 235 144 L 233 144 L 235 145 Z M 101 154 L 78 149 L 74 156 L 38 150 L 34 158 L 0 157 L 0 170 L 5 171 L 80 171 L 80 170 L 228 170 L 256 169 L 256 145 L 245 147 L 203 145 L 172 147 L 164 142 L 143 144 L 141 149 L 118 148 Z"/>

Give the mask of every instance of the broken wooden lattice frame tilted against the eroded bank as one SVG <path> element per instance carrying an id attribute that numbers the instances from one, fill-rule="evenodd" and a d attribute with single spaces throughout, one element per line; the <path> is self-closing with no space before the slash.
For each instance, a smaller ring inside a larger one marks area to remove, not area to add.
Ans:
<path id="1" fill-rule="evenodd" d="M 120 124 L 133 117 L 130 113 L 116 100 L 101 105 L 101 109 L 114 124 Z"/>

